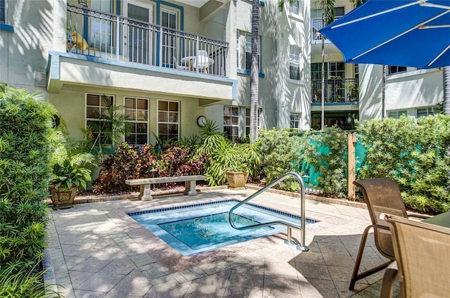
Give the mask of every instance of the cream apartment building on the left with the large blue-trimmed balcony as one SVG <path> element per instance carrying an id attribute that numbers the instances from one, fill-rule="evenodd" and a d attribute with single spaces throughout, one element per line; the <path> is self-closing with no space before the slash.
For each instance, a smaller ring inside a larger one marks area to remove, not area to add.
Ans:
<path id="1" fill-rule="evenodd" d="M 309 1 L 296 7 L 259 1 L 262 128 L 309 129 Z M 251 12 L 248 0 L 0 0 L 0 82 L 41 91 L 74 138 L 109 105 L 128 115 L 130 144 L 198 134 L 200 116 L 247 136 Z"/>

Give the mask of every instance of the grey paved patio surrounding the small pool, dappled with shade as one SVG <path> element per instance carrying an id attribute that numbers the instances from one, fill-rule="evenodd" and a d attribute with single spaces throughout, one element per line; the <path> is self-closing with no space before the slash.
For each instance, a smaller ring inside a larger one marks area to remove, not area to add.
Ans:
<path id="1" fill-rule="evenodd" d="M 125 212 L 213 200 L 243 200 L 255 190 L 203 190 L 148 202 L 115 200 L 51 212 L 46 283 L 64 297 L 379 297 L 383 271 L 349 280 L 366 209 L 307 200 L 309 252 L 285 233 L 184 257 Z M 252 202 L 300 214 L 300 199 L 264 193 Z M 300 231 L 293 231 L 300 239 Z M 368 241 L 361 269 L 385 261 Z M 355 294 L 356 293 L 356 294 Z"/>

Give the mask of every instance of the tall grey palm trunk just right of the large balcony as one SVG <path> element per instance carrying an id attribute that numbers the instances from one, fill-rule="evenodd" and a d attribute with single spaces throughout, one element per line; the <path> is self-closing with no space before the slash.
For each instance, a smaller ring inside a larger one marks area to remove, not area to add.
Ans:
<path id="1" fill-rule="evenodd" d="M 250 143 L 258 138 L 258 38 L 259 37 L 259 0 L 252 4 L 252 65 L 250 66 Z"/>

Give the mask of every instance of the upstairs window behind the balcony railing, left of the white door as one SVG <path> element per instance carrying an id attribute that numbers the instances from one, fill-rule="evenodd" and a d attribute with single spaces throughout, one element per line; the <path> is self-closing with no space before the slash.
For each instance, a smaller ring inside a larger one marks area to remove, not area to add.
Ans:
<path id="1" fill-rule="evenodd" d="M 92 8 L 105 13 L 112 12 L 111 0 L 91 1 Z M 103 51 L 108 51 L 108 46 L 111 46 L 113 37 L 113 22 L 108 14 L 95 13 L 97 18 L 94 18 L 91 23 L 91 39 L 89 43 L 91 46 L 101 48 Z M 70 28 L 73 30 L 74 28 Z M 110 49 L 109 49 L 110 51 Z"/>

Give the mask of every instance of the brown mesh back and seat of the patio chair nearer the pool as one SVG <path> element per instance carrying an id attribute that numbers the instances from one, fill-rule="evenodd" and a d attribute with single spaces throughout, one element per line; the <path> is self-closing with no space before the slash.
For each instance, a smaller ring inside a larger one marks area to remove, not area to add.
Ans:
<path id="1" fill-rule="evenodd" d="M 380 219 L 380 214 L 408 217 L 399 186 L 389 178 L 358 180 L 354 184 L 362 190 L 372 224 L 384 227 L 374 229 L 375 246 L 384 257 L 394 259 L 389 226 Z"/>

